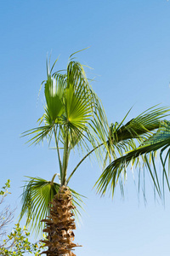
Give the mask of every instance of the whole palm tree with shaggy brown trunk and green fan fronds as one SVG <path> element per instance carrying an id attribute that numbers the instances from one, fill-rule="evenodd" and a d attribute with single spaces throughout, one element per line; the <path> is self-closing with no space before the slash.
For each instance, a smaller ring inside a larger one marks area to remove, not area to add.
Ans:
<path id="1" fill-rule="evenodd" d="M 43 226 L 40 221 L 46 223 L 43 231 L 48 233 L 48 240 L 45 241 L 48 246 L 45 252 L 47 255 L 75 255 L 71 252 L 72 247 L 77 246 L 72 242 L 72 230 L 76 228 L 72 216 L 73 212 L 77 214 L 76 206 L 80 206 L 82 199 L 68 184 L 77 168 L 89 155 L 95 153 L 104 167 L 96 185 L 98 191 L 105 195 L 109 186 L 114 193 L 118 181 L 122 188 L 121 173 L 124 172 L 126 176 L 130 162 L 138 166 L 142 160 L 161 195 L 154 159 L 156 150 L 165 145 L 162 134 L 167 134 L 167 128 L 164 129 L 167 123 L 161 119 L 167 116 L 169 109 L 150 108 L 126 125 L 123 122 L 127 115 L 120 124 L 109 125 L 99 97 L 90 86 L 83 66 L 74 60 L 73 55 L 65 71 L 52 74 L 54 65 L 51 69 L 49 65 L 47 61 L 47 79 L 42 82 L 46 99 L 45 113 L 39 119 L 40 125 L 26 131 L 23 136 L 31 135 L 31 144 L 40 143 L 44 138 L 47 138 L 49 144 L 54 140 L 59 173 L 54 173 L 50 181 L 29 177 L 22 195 L 20 218 L 26 213 L 26 223 L 31 223 L 37 233 Z M 170 127 L 168 125 L 166 127 Z M 168 145 L 170 140 L 166 142 Z M 82 160 L 68 175 L 71 151 L 77 149 L 83 154 Z M 153 162 L 153 171 L 147 155 Z M 167 179 L 165 161 L 162 161 L 163 175 Z M 59 177 L 59 183 L 54 182 L 55 177 Z"/>

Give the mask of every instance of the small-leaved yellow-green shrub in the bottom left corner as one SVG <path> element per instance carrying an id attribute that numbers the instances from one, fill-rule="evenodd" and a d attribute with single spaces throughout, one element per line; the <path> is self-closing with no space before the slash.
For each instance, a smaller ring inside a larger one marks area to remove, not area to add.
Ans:
<path id="1" fill-rule="evenodd" d="M 25 253 L 33 253 L 38 256 L 42 252 L 42 242 L 32 243 L 29 241 L 30 232 L 20 224 L 15 224 L 14 230 L 3 240 L 3 247 L 0 246 L 0 255 L 4 256 L 22 256 Z"/>

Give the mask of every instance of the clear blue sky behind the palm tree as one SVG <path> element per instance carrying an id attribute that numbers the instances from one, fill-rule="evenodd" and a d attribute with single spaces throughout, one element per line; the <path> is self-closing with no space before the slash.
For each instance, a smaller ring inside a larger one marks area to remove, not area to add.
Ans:
<path id="1" fill-rule="evenodd" d="M 11 180 L 7 202 L 20 213 L 25 176 L 50 180 L 58 170 L 47 143 L 28 147 L 23 131 L 37 126 L 43 113 L 46 56 L 59 56 L 55 70 L 66 67 L 79 49 L 77 61 L 95 78 L 93 88 L 103 102 L 109 122 L 127 121 L 147 108 L 170 106 L 170 2 L 167 0 L 29 0 L 0 1 L 0 170 L 2 187 Z M 77 156 L 71 159 L 76 166 Z M 161 171 L 161 165 L 157 163 Z M 135 172 L 135 170 L 134 170 Z M 146 197 L 137 193 L 129 170 L 125 198 L 96 195 L 101 169 L 86 160 L 70 186 L 85 200 L 77 225 L 77 256 L 167 256 L 170 240 L 170 195 L 165 206 L 154 200 L 150 178 Z M 24 224 L 24 223 L 23 223 Z"/>

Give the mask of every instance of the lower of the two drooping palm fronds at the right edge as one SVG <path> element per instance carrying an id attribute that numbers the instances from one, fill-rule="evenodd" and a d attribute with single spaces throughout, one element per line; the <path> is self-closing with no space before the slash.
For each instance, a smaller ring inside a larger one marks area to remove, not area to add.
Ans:
<path id="1" fill-rule="evenodd" d="M 127 166 L 129 166 L 130 163 L 132 165 L 137 161 L 137 164 L 139 163 L 139 160 L 143 160 L 143 165 L 147 168 L 147 170 L 150 173 L 150 177 L 152 178 L 152 181 L 154 183 L 154 186 L 156 188 L 156 191 L 158 195 L 161 196 L 161 192 L 164 191 L 164 177 L 166 177 L 167 187 L 170 189 L 169 181 L 167 177 L 167 172 L 165 165 L 167 163 L 169 153 L 170 151 L 167 151 L 167 155 L 165 160 L 162 160 L 162 154 L 163 152 L 170 146 L 170 122 L 167 120 L 161 121 L 160 127 L 158 131 L 156 131 L 153 135 L 150 135 L 148 139 L 146 139 L 139 148 L 136 148 L 127 154 L 123 155 L 120 158 L 117 158 L 116 160 L 112 161 L 109 166 L 105 168 L 105 171 L 101 174 L 99 177 L 99 180 L 95 185 L 97 185 L 98 192 L 102 195 L 105 195 L 106 189 L 108 189 L 109 186 L 111 186 L 112 195 L 114 194 L 116 183 L 118 182 L 120 178 L 120 174 L 123 171 L 127 170 Z M 154 153 L 161 149 L 161 163 L 163 166 L 162 170 L 162 191 L 160 182 L 158 181 L 158 174 L 156 171 L 156 165 L 155 165 L 155 157 Z M 150 157 L 150 160 L 148 158 Z M 136 167 L 138 166 L 136 164 Z M 153 168 L 151 169 L 150 164 L 152 164 Z"/>

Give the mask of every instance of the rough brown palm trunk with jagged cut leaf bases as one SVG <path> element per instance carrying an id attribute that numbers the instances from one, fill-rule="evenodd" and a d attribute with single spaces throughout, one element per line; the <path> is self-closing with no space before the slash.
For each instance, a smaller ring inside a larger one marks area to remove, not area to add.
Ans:
<path id="1" fill-rule="evenodd" d="M 74 233 L 76 230 L 75 219 L 72 209 L 71 191 L 65 186 L 60 187 L 59 193 L 54 196 L 52 207 L 50 207 L 50 215 L 48 219 L 42 219 L 46 223 L 43 232 L 48 233 L 47 240 L 43 241 L 48 250 L 48 256 L 76 256 L 71 252 L 73 247 L 79 245 L 73 243 Z"/>

